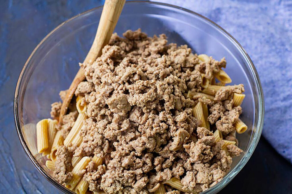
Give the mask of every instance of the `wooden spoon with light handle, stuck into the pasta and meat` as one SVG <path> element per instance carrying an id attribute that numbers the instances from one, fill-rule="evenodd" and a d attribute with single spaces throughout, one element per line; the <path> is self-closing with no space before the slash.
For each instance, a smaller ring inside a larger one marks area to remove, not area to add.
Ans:
<path id="1" fill-rule="evenodd" d="M 109 43 L 109 39 L 114 32 L 114 28 L 119 20 L 125 1 L 126 0 L 105 1 L 94 41 L 83 63 L 91 65 L 97 57 L 100 57 L 102 48 Z M 67 112 L 69 103 L 71 102 L 78 84 L 84 79 L 84 70 L 80 68 L 67 91 L 66 98 L 63 100 L 59 116 L 60 124 L 62 124 L 62 118 Z"/>

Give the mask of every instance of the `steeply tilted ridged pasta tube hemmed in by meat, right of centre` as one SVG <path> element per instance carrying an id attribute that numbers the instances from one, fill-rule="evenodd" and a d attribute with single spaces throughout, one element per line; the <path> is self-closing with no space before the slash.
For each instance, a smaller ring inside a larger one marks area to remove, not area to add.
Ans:
<path id="1" fill-rule="evenodd" d="M 210 123 L 207 120 L 208 117 L 207 105 L 198 102 L 197 105 L 193 108 L 193 115 L 194 117 L 201 121 L 200 127 L 205 127 L 210 130 Z"/>

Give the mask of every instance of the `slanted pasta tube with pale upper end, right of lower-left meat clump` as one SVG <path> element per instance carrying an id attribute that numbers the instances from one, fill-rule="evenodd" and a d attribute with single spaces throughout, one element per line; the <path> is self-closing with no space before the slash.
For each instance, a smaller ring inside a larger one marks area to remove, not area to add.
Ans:
<path id="1" fill-rule="evenodd" d="M 65 184 L 65 187 L 70 189 L 71 191 L 74 190 L 75 186 L 79 183 L 82 176 L 79 176 L 79 172 L 81 170 L 84 170 L 88 163 L 90 162 L 90 158 L 88 156 L 84 156 L 81 158 L 81 160 L 77 163 L 77 165 L 72 170 L 72 179 L 69 181 L 69 183 Z"/>

